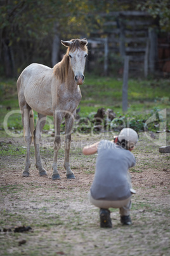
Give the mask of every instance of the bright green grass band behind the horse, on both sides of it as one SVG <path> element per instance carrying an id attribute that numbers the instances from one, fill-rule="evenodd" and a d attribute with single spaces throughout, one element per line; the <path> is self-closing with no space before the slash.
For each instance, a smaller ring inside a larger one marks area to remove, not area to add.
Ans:
<path id="1" fill-rule="evenodd" d="M 169 118 L 170 92 L 168 79 L 160 80 L 137 80 L 129 79 L 128 82 L 128 113 L 129 117 L 138 118 L 139 115 L 145 117 L 153 109 L 167 109 Z M 88 117 L 90 113 L 96 113 L 98 108 L 111 108 L 117 117 L 122 115 L 122 79 L 97 77 L 86 75 L 86 80 L 81 85 L 82 99 L 79 107 L 81 117 Z M 3 129 L 4 117 L 11 113 L 10 111 L 19 110 L 18 95 L 16 90 L 16 80 L 4 80 L 0 78 L 0 129 Z M 9 110 L 10 108 L 10 110 Z M 136 117 L 137 116 L 137 117 Z M 34 112 L 36 123 L 37 113 Z M 53 120 L 53 117 L 48 117 Z M 84 125 L 84 124 L 83 124 Z M 143 124 L 140 124 L 143 125 Z M 44 130 L 50 127 L 46 122 Z M 50 127 L 53 128 L 53 125 Z M 138 127 L 140 129 L 140 127 Z M 8 118 L 8 129 L 22 129 L 22 118 L 19 112 L 13 113 Z M 62 131 L 64 130 L 64 125 Z"/>

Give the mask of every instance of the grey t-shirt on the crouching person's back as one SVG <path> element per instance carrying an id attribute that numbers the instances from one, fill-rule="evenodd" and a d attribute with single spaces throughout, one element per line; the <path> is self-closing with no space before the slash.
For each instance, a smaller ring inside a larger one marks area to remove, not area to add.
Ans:
<path id="1" fill-rule="evenodd" d="M 91 196 L 96 200 L 117 201 L 131 196 L 128 169 L 136 163 L 133 153 L 112 141 L 98 144 L 96 172 Z"/>

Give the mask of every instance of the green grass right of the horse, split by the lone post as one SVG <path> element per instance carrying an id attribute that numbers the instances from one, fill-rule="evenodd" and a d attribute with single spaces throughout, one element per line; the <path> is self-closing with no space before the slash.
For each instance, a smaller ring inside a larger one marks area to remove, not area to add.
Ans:
<path id="1" fill-rule="evenodd" d="M 128 111 L 146 111 L 155 106 L 167 108 L 169 103 L 169 80 L 133 80 L 128 82 Z M 87 115 L 100 107 L 122 111 L 122 80 L 86 75 L 81 85 L 81 115 Z"/>

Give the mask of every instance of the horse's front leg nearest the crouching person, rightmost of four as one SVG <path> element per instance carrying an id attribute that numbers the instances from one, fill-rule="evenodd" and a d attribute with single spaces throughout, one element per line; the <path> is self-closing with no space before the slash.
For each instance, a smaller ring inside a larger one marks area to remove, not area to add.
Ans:
<path id="1" fill-rule="evenodd" d="M 72 125 L 74 124 L 74 115 L 69 115 L 69 117 L 65 117 L 65 159 L 64 159 L 64 167 L 66 170 L 67 179 L 75 179 L 74 173 L 70 169 L 70 143 L 71 143 L 71 132 Z"/>

